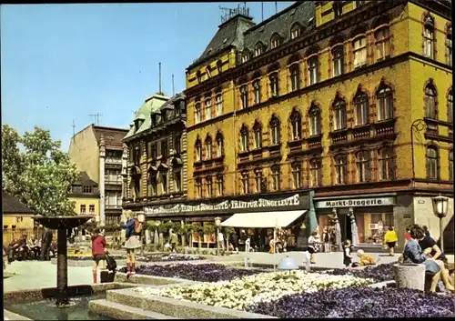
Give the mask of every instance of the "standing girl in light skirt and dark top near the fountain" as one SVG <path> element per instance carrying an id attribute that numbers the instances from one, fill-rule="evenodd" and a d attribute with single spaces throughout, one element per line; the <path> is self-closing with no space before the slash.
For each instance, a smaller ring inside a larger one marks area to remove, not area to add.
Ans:
<path id="1" fill-rule="evenodd" d="M 136 249 L 141 247 L 139 236 L 142 233 L 142 223 L 134 216 L 131 210 L 126 211 L 126 224 L 120 225 L 126 230 L 126 276 L 136 274 Z"/>

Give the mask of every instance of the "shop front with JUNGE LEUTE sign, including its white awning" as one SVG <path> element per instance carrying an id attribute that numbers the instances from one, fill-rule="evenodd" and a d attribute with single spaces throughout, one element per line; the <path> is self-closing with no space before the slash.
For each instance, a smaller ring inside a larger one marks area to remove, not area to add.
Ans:
<path id="1" fill-rule="evenodd" d="M 221 201 L 197 203 L 188 201 L 167 206 L 144 207 L 147 219 L 161 221 L 177 221 L 198 226 L 215 226 L 215 218 L 220 217 L 224 223 L 230 220 L 232 224 L 223 224 L 222 230 L 234 231 L 238 236 L 240 249 L 249 236 L 251 246 L 258 251 L 268 251 L 268 244 L 273 237 L 275 223 L 283 226 L 283 219 L 288 225 L 282 228 L 282 236 L 286 238 L 289 249 L 298 245 L 298 238 L 302 234 L 300 226 L 306 218 L 309 208 L 309 194 L 281 194 L 265 197 L 232 197 Z M 286 218 L 284 218 L 286 217 Z M 268 224 L 264 222 L 268 220 Z M 210 230 L 207 227 L 206 231 Z M 192 237 L 193 245 L 199 242 L 198 235 Z M 205 233 L 201 237 L 204 246 L 215 247 L 215 233 Z"/>

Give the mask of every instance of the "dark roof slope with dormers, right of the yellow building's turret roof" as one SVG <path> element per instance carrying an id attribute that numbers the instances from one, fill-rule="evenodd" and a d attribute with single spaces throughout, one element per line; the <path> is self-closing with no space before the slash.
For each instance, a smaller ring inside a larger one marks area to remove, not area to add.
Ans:
<path id="1" fill-rule="evenodd" d="M 298 1 L 294 5 L 289 5 L 284 10 L 281 10 L 278 14 L 270 16 L 260 24 L 249 28 L 245 32 L 244 48 L 252 52 L 258 41 L 269 48 L 270 38 L 275 33 L 285 43 L 290 39 L 290 28 L 292 25 L 298 22 L 304 27 L 304 33 L 307 33 L 314 28 L 314 18 L 314 1 Z"/>

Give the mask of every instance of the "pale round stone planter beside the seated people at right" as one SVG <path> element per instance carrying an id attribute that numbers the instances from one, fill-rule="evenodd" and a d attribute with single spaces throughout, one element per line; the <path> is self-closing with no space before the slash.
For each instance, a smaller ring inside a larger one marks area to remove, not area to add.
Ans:
<path id="1" fill-rule="evenodd" d="M 393 276 L 397 288 L 425 290 L 425 265 L 423 264 L 395 264 L 393 265 Z"/>

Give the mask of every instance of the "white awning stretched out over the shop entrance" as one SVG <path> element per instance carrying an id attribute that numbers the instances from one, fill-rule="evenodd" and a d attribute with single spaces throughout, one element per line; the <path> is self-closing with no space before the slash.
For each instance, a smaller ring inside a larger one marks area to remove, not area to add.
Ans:
<path id="1" fill-rule="evenodd" d="M 222 222 L 221 226 L 251 228 L 287 227 L 306 212 L 307 210 L 237 213 Z"/>

